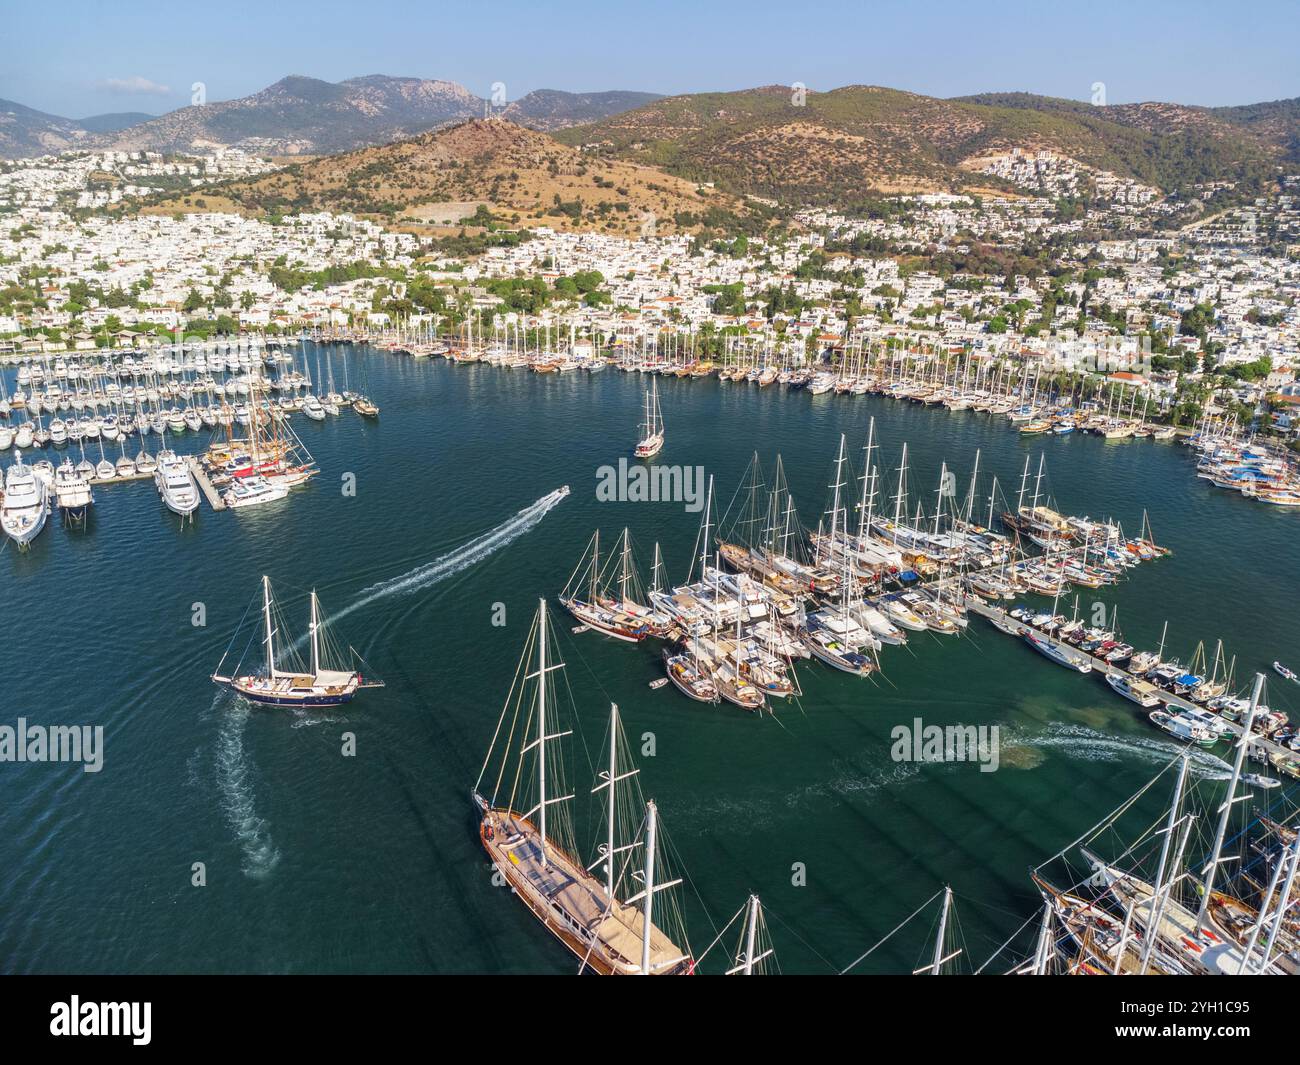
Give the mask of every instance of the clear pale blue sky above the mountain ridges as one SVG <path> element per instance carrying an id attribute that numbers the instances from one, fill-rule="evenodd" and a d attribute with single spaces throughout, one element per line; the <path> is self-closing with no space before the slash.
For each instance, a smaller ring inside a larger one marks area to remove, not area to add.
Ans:
<path id="1" fill-rule="evenodd" d="M 83 117 L 231 99 L 285 74 L 447 78 L 533 88 L 698 92 L 802 82 L 933 96 L 1024 90 L 1109 103 L 1300 95 L 1300 4 L 655 4 L 477 0 L 0 0 L 0 98 Z"/>

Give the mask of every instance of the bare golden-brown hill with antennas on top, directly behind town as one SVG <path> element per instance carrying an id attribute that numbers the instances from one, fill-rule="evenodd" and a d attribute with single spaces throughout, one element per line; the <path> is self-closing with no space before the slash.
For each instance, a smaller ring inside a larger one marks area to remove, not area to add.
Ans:
<path id="1" fill-rule="evenodd" d="M 696 226 L 710 209 L 744 209 L 725 194 L 649 166 L 588 159 L 503 118 L 474 118 L 378 148 L 302 160 L 150 209 L 328 209 L 438 225 L 472 215 L 477 204 L 512 225 L 618 234 L 641 231 L 650 217 L 658 230 L 672 231 Z"/>

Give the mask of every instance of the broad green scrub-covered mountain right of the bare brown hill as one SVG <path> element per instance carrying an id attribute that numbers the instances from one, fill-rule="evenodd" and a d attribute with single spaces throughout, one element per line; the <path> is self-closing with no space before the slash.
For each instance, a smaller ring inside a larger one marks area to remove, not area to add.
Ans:
<path id="1" fill-rule="evenodd" d="M 667 96 L 556 137 L 731 191 L 812 203 L 970 186 L 984 179 L 962 163 L 1011 147 L 1049 148 L 1165 190 L 1257 179 L 1280 155 L 1242 124 L 1176 104 L 941 100 L 876 86 L 802 100 L 785 86 Z"/>

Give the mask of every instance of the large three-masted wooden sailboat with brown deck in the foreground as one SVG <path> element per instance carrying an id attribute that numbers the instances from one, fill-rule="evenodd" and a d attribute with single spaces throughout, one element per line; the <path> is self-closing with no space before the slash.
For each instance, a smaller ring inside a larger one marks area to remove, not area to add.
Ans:
<path id="1" fill-rule="evenodd" d="M 592 789 L 593 795 L 606 792 L 606 837 L 590 865 L 577 857 L 566 805 L 573 795 L 567 791 L 559 746 L 572 731 L 558 719 L 559 685 L 551 679 L 564 663 L 551 661 L 551 638 L 541 599 L 472 791 L 481 814 L 480 841 L 514 895 L 578 958 L 580 971 L 688 975 L 696 962 L 684 931 L 655 923 L 668 918 L 680 925 L 671 897 L 660 901 L 660 895 L 681 880 L 663 875 L 655 804 L 623 797 L 620 784 L 637 770 L 627 769 L 627 758 L 620 757 L 625 744 L 615 705 L 610 706 L 608 766 Z M 630 839 L 621 837 L 620 826 L 632 818 L 637 824 Z M 633 870 L 633 863 L 641 867 Z"/>

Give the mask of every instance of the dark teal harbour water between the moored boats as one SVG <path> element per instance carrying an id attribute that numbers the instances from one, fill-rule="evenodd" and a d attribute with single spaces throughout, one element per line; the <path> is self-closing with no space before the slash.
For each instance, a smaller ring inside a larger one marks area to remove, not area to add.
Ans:
<path id="1" fill-rule="evenodd" d="M 646 562 L 658 540 L 670 577 L 685 577 L 698 515 L 595 497 L 597 467 L 634 442 L 646 382 L 612 369 L 538 376 L 333 351 L 339 377 L 341 359 L 354 381 L 364 368 L 382 416 L 295 417 L 322 473 L 287 501 L 240 514 L 204 505 L 182 528 L 151 484 L 107 486 L 86 532 L 52 519 L 30 553 L 0 554 L 0 724 L 105 730 L 99 774 L 0 765 L 6 971 L 576 967 L 491 886 L 468 792 L 537 597 L 563 586 L 595 527 L 606 542 L 629 527 Z M 313 367 L 316 350 L 307 354 Z M 1243 685 L 1274 658 L 1300 663 L 1300 515 L 1199 481 L 1186 449 L 1026 441 L 987 415 L 776 386 L 660 378 L 659 389 L 668 443 L 658 462 L 703 466 L 719 510 L 753 451 L 768 469 L 780 453 L 815 524 L 838 434 L 858 458 L 872 415 L 881 466 L 897 466 L 907 441 L 927 503 L 944 460 L 963 493 L 982 449 L 982 468 L 1014 497 L 1024 456 L 1036 466 L 1045 451 L 1062 510 L 1136 532 L 1147 508 L 1175 551 L 1121 585 L 1080 592 L 1080 609 L 1118 605 L 1139 646 L 1154 648 L 1167 619 L 1167 651 L 1184 661 L 1197 641 L 1213 654 L 1222 638 Z M 346 473 L 355 497 L 342 490 Z M 510 521 L 566 484 L 571 495 L 540 520 Z M 302 715 L 220 693 L 208 676 L 264 572 L 299 632 L 315 586 L 335 635 L 387 688 Z M 191 624 L 195 603 L 205 627 Z M 493 625 L 495 603 L 503 627 Z M 755 891 L 784 971 L 842 967 L 942 883 L 956 892 L 967 957 L 982 962 L 1035 910 L 1028 867 L 1175 753 L 1098 679 L 980 619 L 961 640 L 922 635 L 887 648 L 871 681 L 805 666 L 802 700 L 779 705 L 775 719 L 650 690 L 662 671 L 649 642 L 572 636 L 560 614 L 556 628 L 581 726 L 571 776 L 585 852 L 595 831 L 586 752 L 595 757 L 612 698 L 632 736 L 655 735 L 641 782 L 690 876 L 692 945 L 702 949 Z M 1273 705 L 1300 711 L 1300 688 L 1270 677 Z M 890 728 L 916 717 L 997 724 L 1001 767 L 893 762 Z M 356 736 L 355 757 L 341 754 L 343 732 Z M 1223 769 L 1214 756 L 1199 766 Z M 191 886 L 194 862 L 205 863 L 205 887 Z M 796 863 L 803 886 L 792 883 Z M 862 969 L 910 971 L 928 956 L 928 935 L 920 921 Z M 725 967 L 722 953 L 703 967 Z"/>

